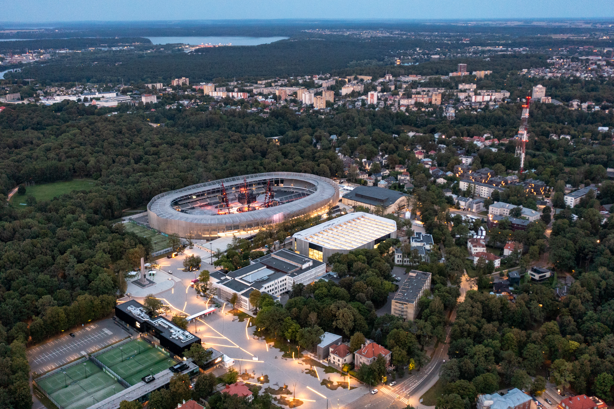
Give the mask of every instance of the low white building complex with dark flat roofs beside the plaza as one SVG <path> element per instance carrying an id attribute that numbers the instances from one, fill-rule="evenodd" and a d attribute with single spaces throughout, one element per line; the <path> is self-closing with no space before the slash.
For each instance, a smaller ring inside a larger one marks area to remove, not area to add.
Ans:
<path id="1" fill-rule="evenodd" d="M 309 259 L 295 252 L 281 249 L 272 254 L 252 260 L 251 265 L 224 273 L 212 271 L 210 279 L 221 300 L 239 296 L 238 305 L 251 310 L 249 294 L 253 290 L 270 294 L 274 300 L 292 289 L 293 284 L 310 284 L 325 275 L 326 265 L 322 260 Z"/>

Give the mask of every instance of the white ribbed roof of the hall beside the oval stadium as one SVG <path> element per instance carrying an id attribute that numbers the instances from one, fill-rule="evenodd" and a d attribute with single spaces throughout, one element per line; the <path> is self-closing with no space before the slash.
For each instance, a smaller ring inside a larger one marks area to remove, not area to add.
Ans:
<path id="1" fill-rule="evenodd" d="M 328 249 L 352 250 L 397 231 L 397 223 L 386 217 L 352 212 L 295 233 L 293 237 Z"/>

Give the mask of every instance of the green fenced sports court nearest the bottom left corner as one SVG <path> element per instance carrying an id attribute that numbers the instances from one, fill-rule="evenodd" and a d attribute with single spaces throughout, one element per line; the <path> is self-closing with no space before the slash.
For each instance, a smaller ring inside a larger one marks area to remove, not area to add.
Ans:
<path id="1" fill-rule="evenodd" d="M 124 389 L 89 360 L 39 379 L 36 383 L 64 409 L 85 409 Z"/>

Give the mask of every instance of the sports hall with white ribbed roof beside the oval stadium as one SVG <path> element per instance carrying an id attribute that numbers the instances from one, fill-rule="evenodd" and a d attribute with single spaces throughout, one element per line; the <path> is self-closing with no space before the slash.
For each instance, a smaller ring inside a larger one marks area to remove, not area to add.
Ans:
<path id="1" fill-rule="evenodd" d="M 295 252 L 326 262 L 333 253 L 373 249 L 388 238 L 397 238 L 397 222 L 365 212 L 351 212 L 294 233 L 292 238 Z"/>

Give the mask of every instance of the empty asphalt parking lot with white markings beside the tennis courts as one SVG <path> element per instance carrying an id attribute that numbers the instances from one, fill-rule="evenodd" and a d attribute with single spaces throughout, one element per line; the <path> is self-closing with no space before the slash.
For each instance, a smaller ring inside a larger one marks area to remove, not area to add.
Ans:
<path id="1" fill-rule="evenodd" d="M 31 371 L 47 372 L 129 336 L 126 330 L 115 325 L 110 318 L 85 325 L 73 333 L 74 338 L 66 333 L 60 338 L 28 349 Z"/>

